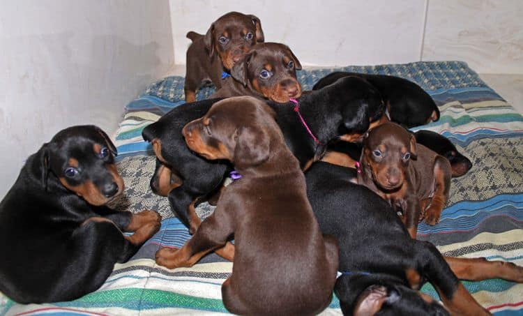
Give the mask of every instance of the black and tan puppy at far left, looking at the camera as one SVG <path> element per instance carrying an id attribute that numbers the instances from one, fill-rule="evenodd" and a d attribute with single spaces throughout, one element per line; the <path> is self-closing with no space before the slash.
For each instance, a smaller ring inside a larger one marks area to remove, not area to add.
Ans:
<path id="1" fill-rule="evenodd" d="M 159 230 L 155 211 L 105 206 L 123 191 L 115 155 L 103 130 L 73 126 L 26 160 L 0 203 L 1 292 L 19 303 L 77 299 Z"/>

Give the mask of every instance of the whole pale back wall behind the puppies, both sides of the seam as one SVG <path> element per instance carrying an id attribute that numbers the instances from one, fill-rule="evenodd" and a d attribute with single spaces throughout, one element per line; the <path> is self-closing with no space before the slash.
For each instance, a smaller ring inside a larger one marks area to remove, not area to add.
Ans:
<path id="1" fill-rule="evenodd" d="M 171 0 L 176 64 L 188 31 L 231 10 L 261 20 L 267 41 L 304 65 L 462 60 L 478 73 L 523 73 L 521 0 Z"/>

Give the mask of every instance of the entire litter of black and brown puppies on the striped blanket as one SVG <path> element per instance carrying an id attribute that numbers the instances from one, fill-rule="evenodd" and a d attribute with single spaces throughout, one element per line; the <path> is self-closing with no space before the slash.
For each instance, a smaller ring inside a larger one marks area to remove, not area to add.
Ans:
<path id="1" fill-rule="evenodd" d="M 192 266 L 211 251 L 231 260 L 222 299 L 240 315 L 316 315 L 333 291 L 344 315 L 489 315 L 460 280 L 523 282 L 523 267 L 416 240 L 420 220 L 437 225 L 450 178 L 472 167 L 445 137 L 406 129 L 439 119 L 420 86 L 332 73 L 302 91 L 301 63 L 264 42 L 255 15 L 227 13 L 187 37 L 187 103 L 142 132 L 156 155 L 151 190 L 193 235 L 158 250 L 158 264 Z M 209 82 L 215 93 L 196 101 Z M 11 254 L 1 292 L 76 299 L 158 232 L 155 211 L 105 206 L 123 190 L 114 156 L 102 130 L 74 126 L 28 158 L 0 204 L 0 252 Z M 195 206 L 209 198 L 202 220 Z M 427 282 L 443 304 L 418 291 Z"/>

